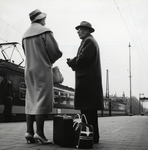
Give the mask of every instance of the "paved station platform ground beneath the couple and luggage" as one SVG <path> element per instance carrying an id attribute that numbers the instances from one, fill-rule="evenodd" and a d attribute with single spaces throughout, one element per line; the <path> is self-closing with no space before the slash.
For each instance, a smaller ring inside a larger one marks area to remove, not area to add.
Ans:
<path id="1" fill-rule="evenodd" d="M 100 143 L 93 149 L 148 150 L 148 116 L 99 117 Z M 27 144 L 26 123 L 0 123 L 0 150 L 77 150 L 58 145 Z M 46 137 L 53 139 L 53 121 L 45 122 Z"/>

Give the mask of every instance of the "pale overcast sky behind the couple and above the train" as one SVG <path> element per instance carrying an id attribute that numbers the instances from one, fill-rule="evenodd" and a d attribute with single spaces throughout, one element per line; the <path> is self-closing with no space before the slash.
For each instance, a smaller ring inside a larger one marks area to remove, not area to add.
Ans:
<path id="1" fill-rule="evenodd" d="M 100 47 L 104 95 L 108 70 L 109 94 L 130 96 L 131 52 L 132 96 L 139 98 L 144 93 L 148 97 L 148 0 L 0 0 L 0 43 L 21 44 L 31 24 L 29 13 L 35 9 L 47 13 L 46 27 L 53 31 L 63 52 L 54 64 L 63 74 L 63 85 L 75 87 L 75 73 L 66 58 L 76 56 L 81 42 L 75 27 L 88 21 Z"/>

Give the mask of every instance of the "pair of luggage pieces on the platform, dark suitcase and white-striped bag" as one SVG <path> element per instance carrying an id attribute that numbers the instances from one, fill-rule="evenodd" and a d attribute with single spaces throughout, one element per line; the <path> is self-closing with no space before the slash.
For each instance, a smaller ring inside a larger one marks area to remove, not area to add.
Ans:
<path id="1" fill-rule="evenodd" d="M 74 118 L 56 115 L 53 119 L 53 141 L 63 147 L 93 148 L 93 126 L 84 114 Z"/>

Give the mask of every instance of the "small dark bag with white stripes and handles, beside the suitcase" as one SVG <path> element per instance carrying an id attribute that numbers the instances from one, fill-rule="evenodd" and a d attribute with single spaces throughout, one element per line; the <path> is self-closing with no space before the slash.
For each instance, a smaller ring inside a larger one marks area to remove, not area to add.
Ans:
<path id="1" fill-rule="evenodd" d="M 85 122 L 84 122 L 85 121 Z M 77 148 L 93 148 L 93 126 L 88 124 L 86 116 L 77 114 L 73 120 L 73 128 L 75 133 L 75 141 Z"/>

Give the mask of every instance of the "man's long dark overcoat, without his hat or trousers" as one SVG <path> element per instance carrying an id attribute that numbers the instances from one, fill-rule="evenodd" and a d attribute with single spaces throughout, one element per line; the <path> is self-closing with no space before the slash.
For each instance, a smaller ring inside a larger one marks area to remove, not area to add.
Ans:
<path id="1" fill-rule="evenodd" d="M 75 109 L 103 109 L 100 52 L 92 35 L 82 40 L 77 56 L 67 63 L 75 71 L 76 76 Z"/>

